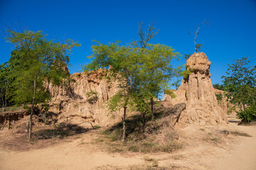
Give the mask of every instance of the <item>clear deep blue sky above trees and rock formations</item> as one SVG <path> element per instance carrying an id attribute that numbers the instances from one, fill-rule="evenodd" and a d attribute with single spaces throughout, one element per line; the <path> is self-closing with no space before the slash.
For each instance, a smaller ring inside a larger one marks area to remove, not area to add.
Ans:
<path id="1" fill-rule="evenodd" d="M 159 29 L 153 43 L 172 46 L 176 52 L 194 52 L 193 35 L 198 23 L 206 19 L 198 42 L 212 62 L 210 72 L 213 84 L 233 59 L 250 57 L 256 64 L 256 1 L 255 0 L 176 0 L 176 1 L 58 1 L 58 0 L 0 0 L 0 29 L 6 24 L 17 29 L 17 22 L 29 30 L 43 30 L 49 39 L 70 38 L 82 44 L 70 56 L 70 72 L 80 72 L 81 65 L 90 62 L 92 40 L 102 43 L 137 40 L 138 23 L 155 22 Z M 0 64 L 7 62 L 14 47 L 0 33 Z M 185 64 L 181 60 L 178 64 Z"/>

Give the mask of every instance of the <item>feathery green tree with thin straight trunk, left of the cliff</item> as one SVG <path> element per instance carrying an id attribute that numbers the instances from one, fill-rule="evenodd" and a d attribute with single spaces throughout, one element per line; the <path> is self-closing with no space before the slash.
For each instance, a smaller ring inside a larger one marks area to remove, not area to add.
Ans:
<path id="1" fill-rule="evenodd" d="M 15 66 L 11 69 L 12 77 L 15 77 L 13 100 L 17 104 L 31 105 L 28 123 L 28 139 L 31 139 L 34 107 L 50 98 L 44 84 L 46 81 L 55 83 L 61 79 L 57 73 L 64 72 L 63 67 L 69 62 L 70 51 L 79 45 L 73 40 L 63 43 L 47 40 L 41 31 L 31 30 L 21 33 L 7 30 L 6 39 L 16 47 L 16 57 L 9 61 L 11 66 Z M 59 72 L 54 72 L 56 70 Z"/>

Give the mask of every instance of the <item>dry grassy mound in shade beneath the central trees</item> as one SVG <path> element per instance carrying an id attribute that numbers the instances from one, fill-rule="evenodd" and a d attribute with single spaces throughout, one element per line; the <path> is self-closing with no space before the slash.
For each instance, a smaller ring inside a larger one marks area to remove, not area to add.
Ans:
<path id="1" fill-rule="evenodd" d="M 103 130 L 92 143 L 107 147 L 109 152 L 174 152 L 183 144 L 178 141 L 176 131 L 169 127 L 168 118 L 156 113 L 153 120 L 147 118 L 143 132 L 141 118 L 134 115 L 126 122 L 127 141 L 122 142 L 122 123 Z"/>

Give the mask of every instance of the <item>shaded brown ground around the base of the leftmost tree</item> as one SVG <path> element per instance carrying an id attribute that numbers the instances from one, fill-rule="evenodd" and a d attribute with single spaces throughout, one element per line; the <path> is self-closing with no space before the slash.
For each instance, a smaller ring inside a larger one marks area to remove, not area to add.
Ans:
<path id="1" fill-rule="evenodd" d="M 26 128 L 26 126 L 24 126 Z M 8 130 L 1 132 L 0 147 L 16 151 L 27 151 L 30 149 L 40 149 L 51 145 L 73 140 L 92 130 L 92 128 L 83 128 L 80 125 L 70 123 L 60 123 L 53 126 L 33 126 L 32 138 L 27 140 L 26 130 L 18 132 Z M 22 131 L 22 132 L 21 132 Z"/>

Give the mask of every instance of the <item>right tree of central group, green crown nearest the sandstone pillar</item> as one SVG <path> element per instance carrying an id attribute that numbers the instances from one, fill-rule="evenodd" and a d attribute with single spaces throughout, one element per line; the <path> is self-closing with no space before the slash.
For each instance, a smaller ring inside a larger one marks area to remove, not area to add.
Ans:
<path id="1" fill-rule="evenodd" d="M 139 94 L 144 96 L 143 106 L 150 99 L 151 111 L 144 111 L 142 118 L 146 113 L 153 114 L 154 98 L 158 98 L 161 92 L 169 89 L 169 82 L 178 74 L 178 69 L 172 67 L 172 62 L 178 59 L 178 52 L 167 45 L 147 44 L 144 49 L 139 49 Z M 149 107 L 145 107 L 149 108 Z M 143 109 L 140 109 L 143 111 Z M 145 121 L 143 120 L 143 127 Z"/>

